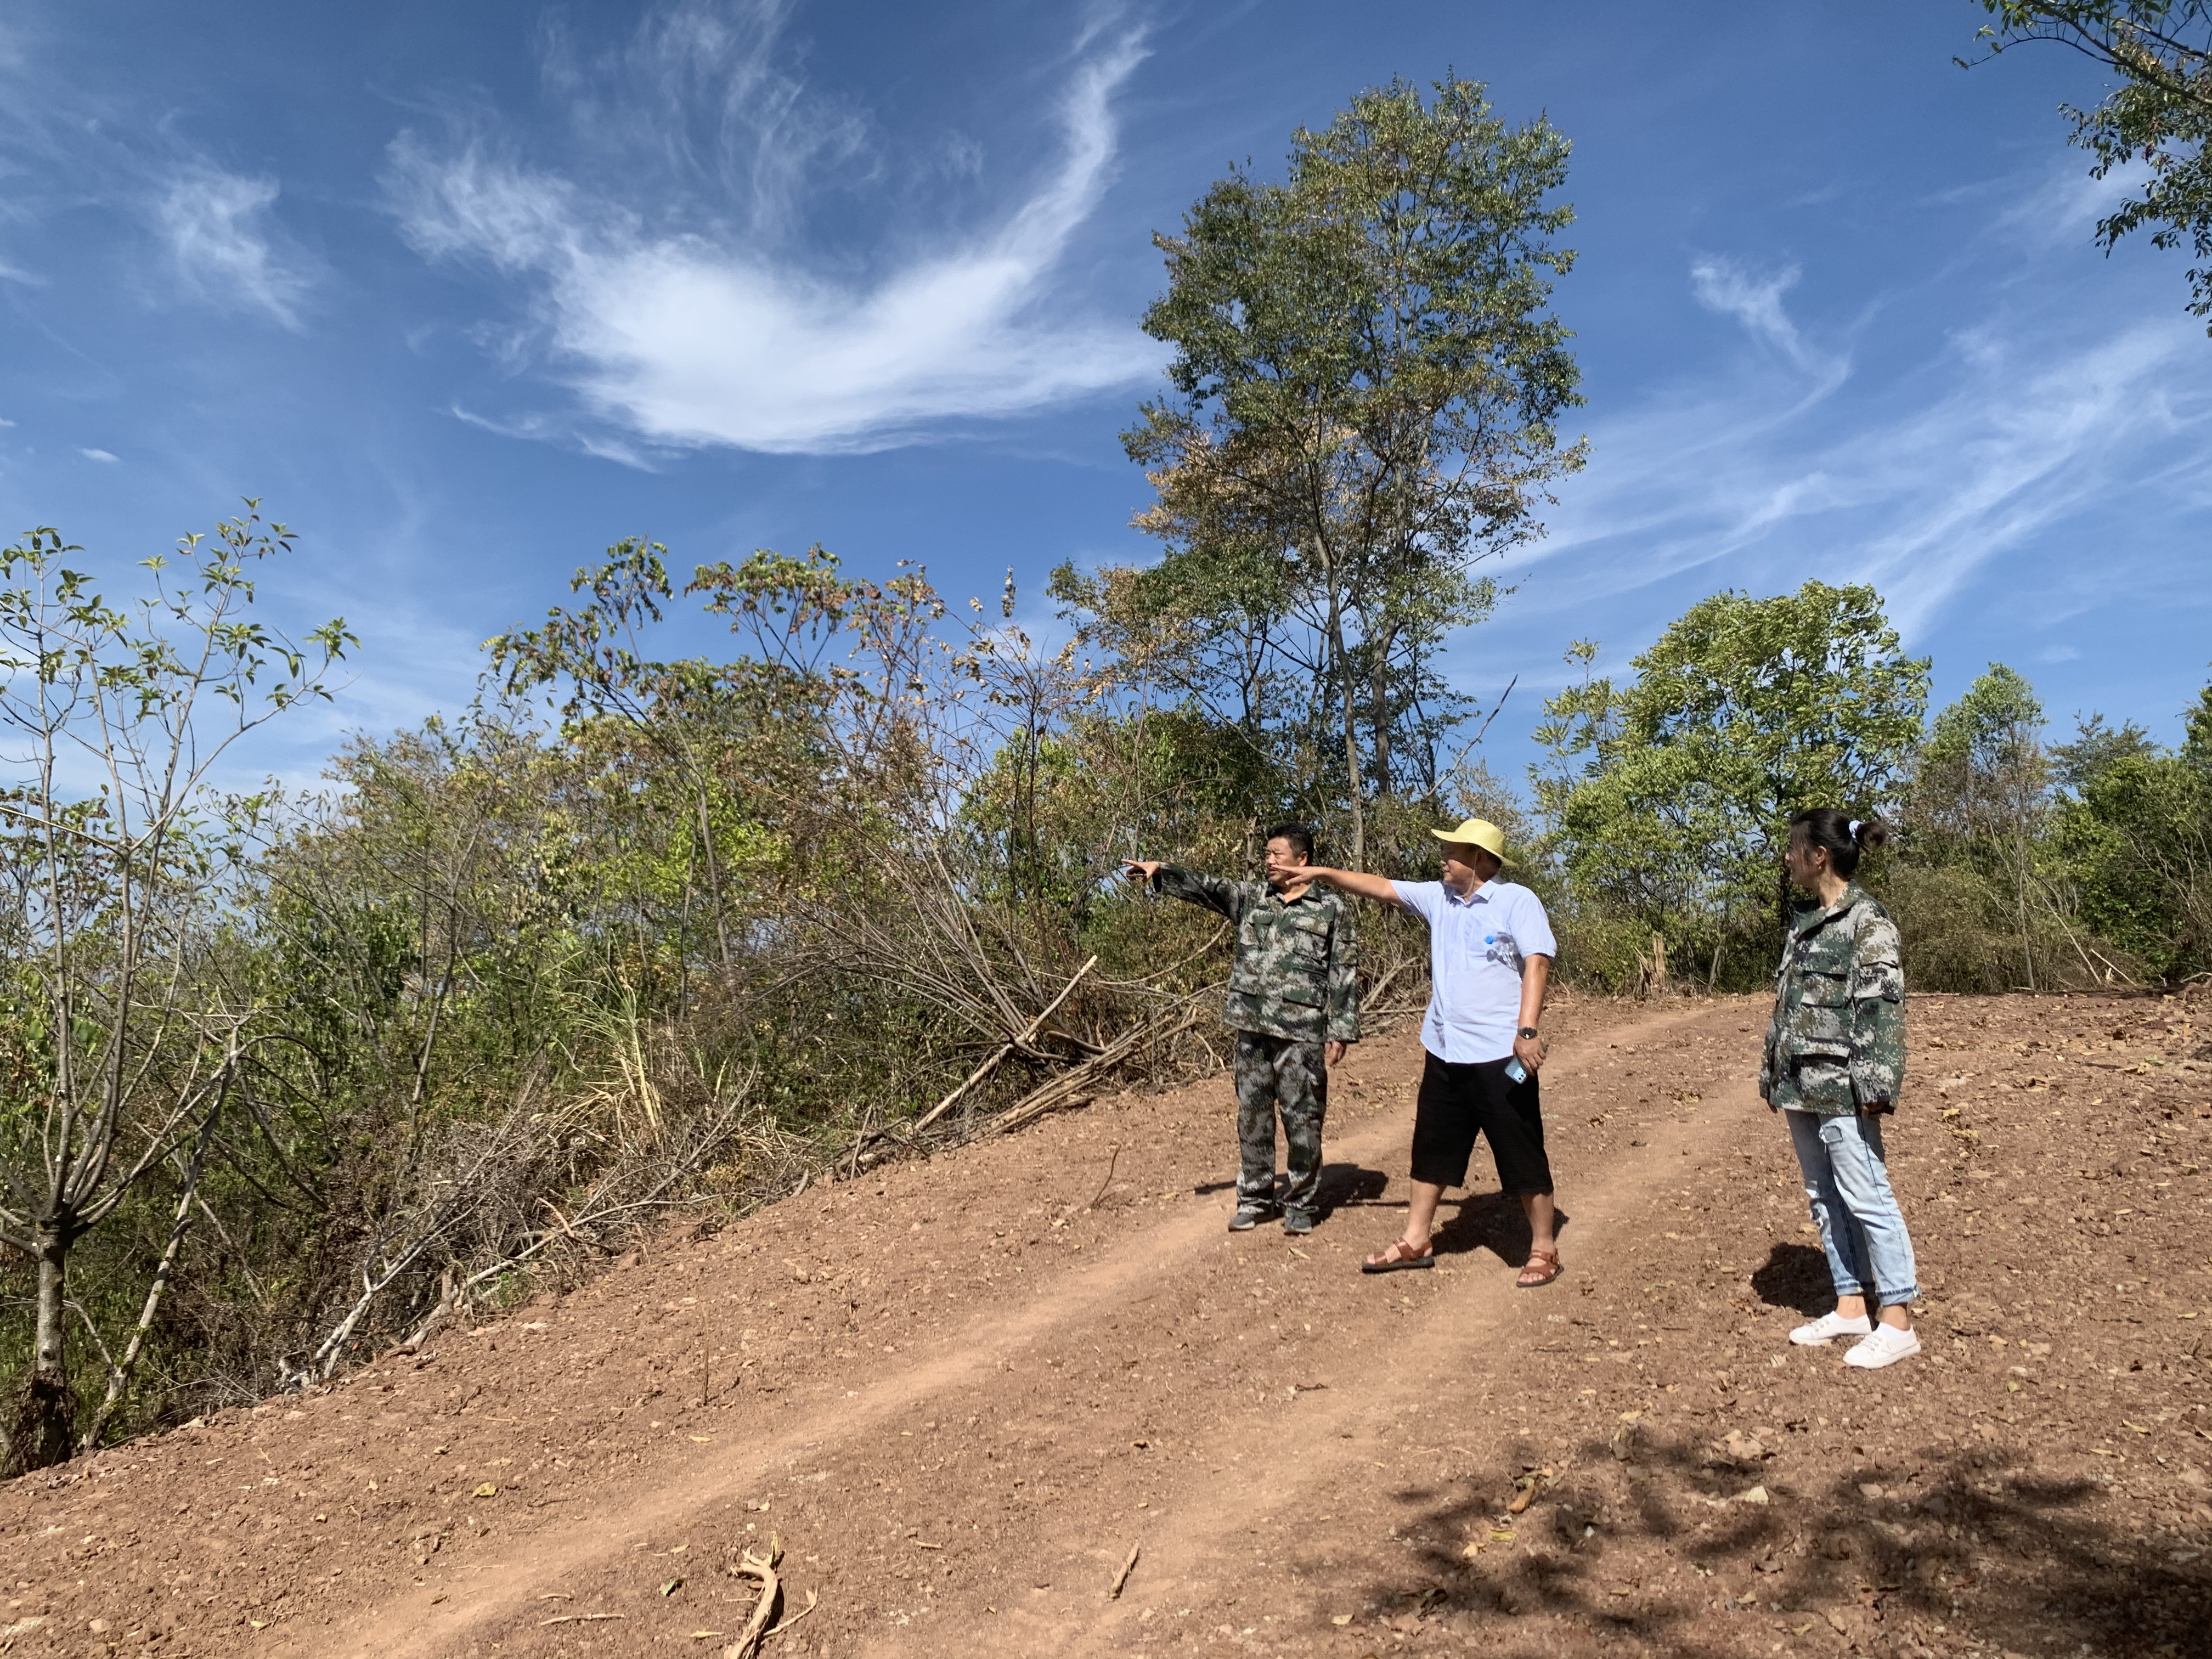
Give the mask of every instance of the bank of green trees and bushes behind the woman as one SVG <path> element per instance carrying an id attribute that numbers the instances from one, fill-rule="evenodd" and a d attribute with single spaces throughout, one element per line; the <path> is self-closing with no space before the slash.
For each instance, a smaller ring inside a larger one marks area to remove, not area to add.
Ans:
<path id="1" fill-rule="evenodd" d="M 1535 776 L 1564 876 L 1568 973 L 1608 991 L 1652 971 L 1750 987 L 1787 898 L 1783 832 L 1803 805 L 1889 816 L 1860 867 L 1907 940 L 1916 987 L 2011 991 L 2172 980 L 2212 940 L 2212 688 L 2179 754 L 2090 714 L 2044 743 L 2044 708 L 1989 664 L 1927 730 L 1929 664 L 1905 657 L 1871 588 L 1690 608 L 1617 686 L 1584 670 L 1546 703 Z M 1688 971 L 1688 973 L 1686 973 Z"/>

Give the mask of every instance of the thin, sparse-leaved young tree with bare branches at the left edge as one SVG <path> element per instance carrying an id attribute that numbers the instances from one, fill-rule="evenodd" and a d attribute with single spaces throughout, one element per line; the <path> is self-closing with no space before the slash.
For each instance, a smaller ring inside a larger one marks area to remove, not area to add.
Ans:
<path id="1" fill-rule="evenodd" d="M 241 737 L 327 697 L 354 644 L 343 622 L 294 644 L 254 619 L 254 566 L 290 546 L 248 502 L 175 562 L 146 560 L 150 591 L 122 606 L 51 529 L 0 553 L 0 1241 L 38 1272 L 15 1467 L 71 1449 L 71 1254 L 181 1141 L 206 1144 L 254 1042 L 252 998 L 212 960 L 263 801 L 212 774 Z M 186 1201 L 93 1433 L 190 1219 Z"/>

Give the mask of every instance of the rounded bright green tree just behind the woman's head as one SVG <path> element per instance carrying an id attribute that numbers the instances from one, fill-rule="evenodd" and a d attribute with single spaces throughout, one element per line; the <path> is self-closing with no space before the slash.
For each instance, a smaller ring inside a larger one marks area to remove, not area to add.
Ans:
<path id="1" fill-rule="evenodd" d="M 1597 646 L 1568 659 L 1588 668 Z M 1717 929 L 1765 887 L 1790 920 L 1790 814 L 1871 814 L 1909 761 L 1929 664 L 1869 586 L 1717 593 L 1632 659 L 1544 703 L 1537 801 L 1584 891 L 1632 880 L 1655 925 Z M 1628 872 L 1628 874 L 1606 874 Z"/>

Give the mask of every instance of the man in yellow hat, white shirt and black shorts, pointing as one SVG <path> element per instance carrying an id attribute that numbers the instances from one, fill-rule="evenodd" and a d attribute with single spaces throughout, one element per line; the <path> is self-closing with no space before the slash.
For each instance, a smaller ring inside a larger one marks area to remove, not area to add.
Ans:
<path id="1" fill-rule="evenodd" d="M 1436 1265 L 1436 1206 L 1447 1186 L 1464 1186 L 1475 1137 L 1489 1135 L 1498 1183 L 1528 1214 L 1528 1265 L 1522 1290 L 1559 1276 L 1559 1245 L 1544 1157 L 1544 1115 L 1535 1075 L 1544 1064 L 1537 1022 L 1559 953 L 1544 902 L 1517 883 L 1498 880 L 1504 832 L 1486 818 L 1431 830 L 1444 843 L 1442 880 L 1389 880 L 1352 869 L 1312 869 L 1347 894 L 1396 905 L 1429 922 L 1429 1051 L 1413 1108 L 1413 1199 L 1405 1237 L 1367 1256 L 1365 1272 Z M 1515 1075 L 1520 1073 L 1520 1075 Z"/>

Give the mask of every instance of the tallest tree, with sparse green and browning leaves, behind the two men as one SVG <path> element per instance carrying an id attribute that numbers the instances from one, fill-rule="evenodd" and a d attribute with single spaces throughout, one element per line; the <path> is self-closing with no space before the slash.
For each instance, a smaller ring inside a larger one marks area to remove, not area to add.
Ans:
<path id="1" fill-rule="evenodd" d="M 1579 394 L 1548 307 L 1573 263 L 1566 157 L 1478 82 L 1425 100 L 1394 80 L 1294 133 L 1281 184 L 1237 168 L 1155 237 L 1168 292 L 1144 327 L 1175 347 L 1172 394 L 1124 445 L 1159 491 L 1137 522 L 1170 568 L 1139 597 L 1272 657 L 1245 686 L 1303 681 L 1301 737 L 1329 732 L 1354 863 L 1400 745 L 1449 721 L 1436 653 L 1498 597 L 1475 562 L 1537 535 L 1551 480 L 1582 465 L 1557 431 Z"/>

